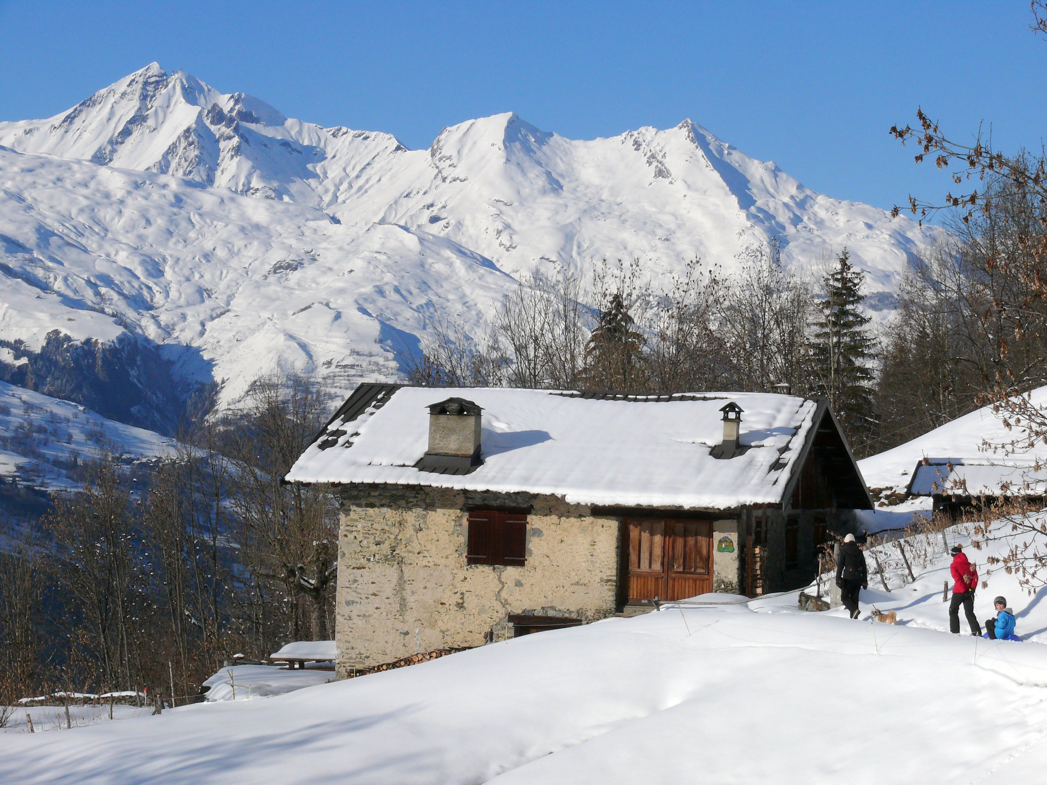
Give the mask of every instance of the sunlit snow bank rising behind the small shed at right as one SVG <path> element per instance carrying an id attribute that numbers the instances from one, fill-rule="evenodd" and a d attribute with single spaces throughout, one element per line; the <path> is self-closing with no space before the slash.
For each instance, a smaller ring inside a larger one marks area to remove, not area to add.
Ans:
<path id="1" fill-rule="evenodd" d="M 1047 406 L 1047 387 L 1033 390 L 1030 401 L 1039 407 Z M 948 470 L 943 465 L 946 462 L 965 464 L 968 467 L 997 465 L 1027 468 L 1037 461 L 1047 461 L 1047 445 L 1044 444 L 1038 444 L 1031 450 L 1015 453 L 984 445 L 986 442 L 989 445 L 1008 444 L 1020 440 L 1024 433 L 1025 429 L 1020 426 L 1013 426 L 1008 430 L 1000 417 L 993 412 L 992 407 L 985 406 L 894 449 L 864 458 L 857 465 L 869 488 L 905 493 L 912 479 L 913 470 L 923 458 L 942 465 L 941 471 L 945 473 Z M 982 471 L 984 473 L 988 470 Z M 1013 474 L 1003 471 L 998 473 L 1009 476 L 1011 481 L 1017 479 Z M 984 477 L 980 477 L 978 481 L 983 479 Z"/>

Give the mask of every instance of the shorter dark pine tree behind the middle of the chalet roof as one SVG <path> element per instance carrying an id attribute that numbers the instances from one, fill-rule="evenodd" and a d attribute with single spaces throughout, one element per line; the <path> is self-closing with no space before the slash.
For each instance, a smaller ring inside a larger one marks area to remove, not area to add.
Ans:
<path id="1" fill-rule="evenodd" d="M 601 389 L 638 389 L 644 382 L 644 336 L 633 329 L 621 292 L 612 293 L 600 311 L 585 345 L 585 382 Z"/>

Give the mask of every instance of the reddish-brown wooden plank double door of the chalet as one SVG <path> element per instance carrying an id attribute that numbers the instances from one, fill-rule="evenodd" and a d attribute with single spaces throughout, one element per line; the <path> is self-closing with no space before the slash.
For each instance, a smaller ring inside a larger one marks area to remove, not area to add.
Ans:
<path id="1" fill-rule="evenodd" d="M 629 602 L 713 590 L 712 522 L 627 518 Z"/>

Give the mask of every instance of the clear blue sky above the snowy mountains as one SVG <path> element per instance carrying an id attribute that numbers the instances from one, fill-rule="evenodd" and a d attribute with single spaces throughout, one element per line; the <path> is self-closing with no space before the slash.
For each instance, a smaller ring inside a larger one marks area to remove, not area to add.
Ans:
<path id="1" fill-rule="evenodd" d="M 396 134 L 515 111 L 571 138 L 690 117 L 816 190 L 890 207 L 948 178 L 887 134 L 922 105 L 1007 149 L 1047 129 L 1028 3 L 0 0 L 0 120 L 157 61 L 291 117 Z"/>

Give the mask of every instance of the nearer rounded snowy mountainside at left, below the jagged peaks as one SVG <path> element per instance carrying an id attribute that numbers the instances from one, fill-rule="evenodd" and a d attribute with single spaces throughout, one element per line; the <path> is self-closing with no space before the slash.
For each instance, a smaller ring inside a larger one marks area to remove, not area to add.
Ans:
<path id="1" fill-rule="evenodd" d="M 0 339 L 131 331 L 183 376 L 229 380 L 227 400 L 277 365 L 339 391 L 395 377 L 433 313 L 478 332 L 514 285 L 424 231 L 3 149 L 0 243 Z"/>

